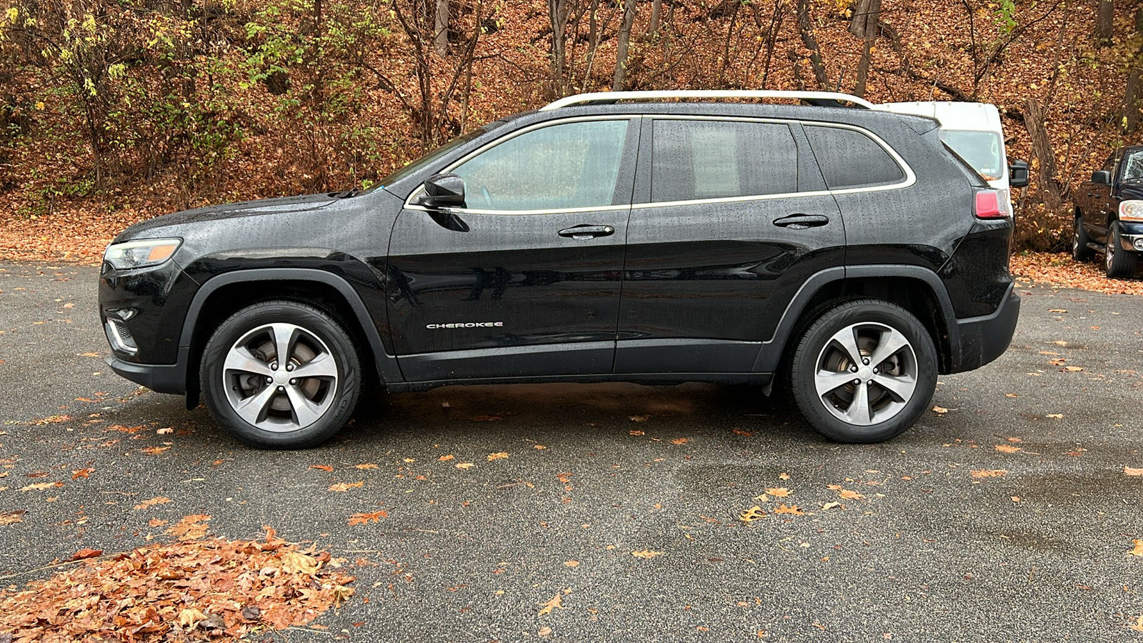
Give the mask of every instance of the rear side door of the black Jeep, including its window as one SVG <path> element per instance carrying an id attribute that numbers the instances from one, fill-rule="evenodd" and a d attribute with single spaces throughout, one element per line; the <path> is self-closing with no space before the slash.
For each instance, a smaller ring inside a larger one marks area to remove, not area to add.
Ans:
<path id="1" fill-rule="evenodd" d="M 844 265 L 837 204 L 796 122 L 660 117 L 644 141 L 615 372 L 749 373 L 806 278 Z"/>

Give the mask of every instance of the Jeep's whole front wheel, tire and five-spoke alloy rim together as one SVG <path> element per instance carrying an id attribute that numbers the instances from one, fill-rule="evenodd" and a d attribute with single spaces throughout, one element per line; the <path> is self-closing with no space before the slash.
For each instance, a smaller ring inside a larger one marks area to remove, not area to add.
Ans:
<path id="1" fill-rule="evenodd" d="M 290 356 L 286 365 L 278 364 L 282 351 Z M 259 448 L 305 448 L 345 426 L 362 376 L 357 347 L 334 318 L 304 303 L 267 301 L 218 326 L 199 379 L 210 414 L 235 438 Z"/>

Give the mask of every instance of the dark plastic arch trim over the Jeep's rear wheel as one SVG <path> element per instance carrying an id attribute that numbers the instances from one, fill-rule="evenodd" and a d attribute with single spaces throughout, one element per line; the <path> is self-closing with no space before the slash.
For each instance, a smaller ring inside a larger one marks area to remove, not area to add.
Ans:
<path id="1" fill-rule="evenodd" d="M 760 350 L 758 351 L 758 358 L 754 360 L 753 372 L 756 373 L 773 373 L 777 371 L 778 365 L 782 360 L 782 354 L 785 350 L 785 342 L 796 341 L 797 339 L 792 336 L 794 331 L 794 325 L 798 323 L 798 318 L 805 312 L 806 307 L 814 299 L 814 295 L 831 281 L 838 281 L 844 279 L 860 279 L 860 278 L 876 278 L 876 277 L 905 277 L 913 278 L 925 281 L 933 288 L 933 293 L 936 295 L 937 302 L 941 305 L 940 315 L 945 320 L 945 327 L 949 331 L 949 346 L 953 351 L 953 363 L 957 362 L 957 354 L 960 347 L 960 336 L 957 326 L 957 315 L 952 308 L 952 299 L 949 297 L 949 291 L 945 288 L 944 283 L 941 278 L 932 270 L 921 265 L 908 265 L 908 264 L 881 264 L 881 265 L 848 265 L 838 268 L 826 268 L 820 272 L 815 272 L 806 283 L 802 284 L 801 288 L 794 294 L 793 299 L 786 305 L 785 311 L 782 313 L 782 319 L 778 325 L 774 328 L 774 334 L 770 339 L 762 342 Z"/>

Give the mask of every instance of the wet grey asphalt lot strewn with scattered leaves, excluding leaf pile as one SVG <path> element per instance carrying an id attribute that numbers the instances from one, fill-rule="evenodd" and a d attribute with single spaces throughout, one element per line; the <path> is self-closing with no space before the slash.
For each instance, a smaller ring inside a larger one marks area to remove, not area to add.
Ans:
<path id="1" fill-rule="evenodd" d="M 1143 640 L 1143 297 L 1025 285 L 1009 350 L 880 445 L 746 387 L 553 384 L 373 395 L 331 443 L 266 452 L 110 373 L 95 280 L 0 264 L 0 513 L 26 511 L 0 587 L 207 514 L 357 575 L 328 630 L 275 641 Z"/>

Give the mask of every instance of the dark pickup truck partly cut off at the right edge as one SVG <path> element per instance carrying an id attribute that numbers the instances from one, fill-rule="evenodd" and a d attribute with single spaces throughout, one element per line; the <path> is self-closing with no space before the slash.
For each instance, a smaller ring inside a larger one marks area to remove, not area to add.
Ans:
<path id="1" fill-rule="evenodd" d="M 1072 256 L 1090 261 L 1102 252 L 1108 277 L 1132 278 L 1143 253 L 1143 145 L 1111 152 L 1073 203 Z"/>

